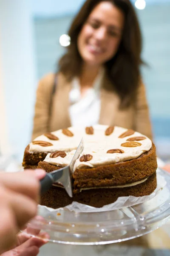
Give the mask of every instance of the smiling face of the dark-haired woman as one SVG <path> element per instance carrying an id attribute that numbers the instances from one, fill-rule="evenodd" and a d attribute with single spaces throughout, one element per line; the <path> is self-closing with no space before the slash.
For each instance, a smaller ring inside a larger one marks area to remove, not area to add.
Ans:
<path id="1" fill-rule="evenodd" d="M 117 52 L 124 26 L 123 12 L 110 2 L 99 3 L 79 33 L 77 46 L 86 64 L 100 66 Z"/>

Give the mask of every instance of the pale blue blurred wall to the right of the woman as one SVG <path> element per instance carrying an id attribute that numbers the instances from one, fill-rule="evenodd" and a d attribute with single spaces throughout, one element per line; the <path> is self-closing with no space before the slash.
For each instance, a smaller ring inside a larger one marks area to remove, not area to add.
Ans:
<path id="1" fill-rule="evenodd" d="M 138 12 L 144 38 L 143 79 L 155 137 L 170 138 L 170 4 Z"/>

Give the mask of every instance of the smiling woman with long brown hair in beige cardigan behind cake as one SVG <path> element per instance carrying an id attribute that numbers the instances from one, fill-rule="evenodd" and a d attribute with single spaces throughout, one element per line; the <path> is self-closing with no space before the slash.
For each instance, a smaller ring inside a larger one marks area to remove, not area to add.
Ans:
<path id="1" fill-rule="evenodd" d="M 87 0 L 68 35 L 59 72 L 40 80 L 32 138 L 96 123 L 152 138 L 140 75 L 141 32 L 130 0 Z"/>

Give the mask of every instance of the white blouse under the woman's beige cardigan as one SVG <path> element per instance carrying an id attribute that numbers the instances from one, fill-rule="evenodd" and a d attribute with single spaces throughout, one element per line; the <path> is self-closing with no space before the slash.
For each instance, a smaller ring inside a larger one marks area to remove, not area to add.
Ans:
<path id="1" fill-rule="evenodd" d="M 104 69 L 96 76 L 93 87 L 89 88 L 81 97 L 79 79 L 73 79 L 72 89 L 69 94 L 69 114 L 72 126 L 92 126 L 99 123 L 100 116 L 100 88 Z"/>

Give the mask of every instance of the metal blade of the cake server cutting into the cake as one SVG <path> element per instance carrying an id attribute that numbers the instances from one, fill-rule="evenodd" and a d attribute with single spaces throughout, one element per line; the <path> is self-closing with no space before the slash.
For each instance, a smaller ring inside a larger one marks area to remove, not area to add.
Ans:
<path id="1" fill-rule="evenodd" d="M 73 197 L 73 189 L 72 189 L 72 177 L 71 174 L 73 173 L 74 163 L 79 158 L 79 155 L 82 153 L 83 150 L 83 138 L 81 139 L 79 146 L 70 162 L 69 166 L 65 166 L 61 169 L 55 170 L 53 172 L 47 172 L 45 177 L 40 180 L 41 184 L 41 194 L 48 191 L 51 188 L 52 184 L 56 181 L 62 183 L 66 192 L 70 197 Z"/>

